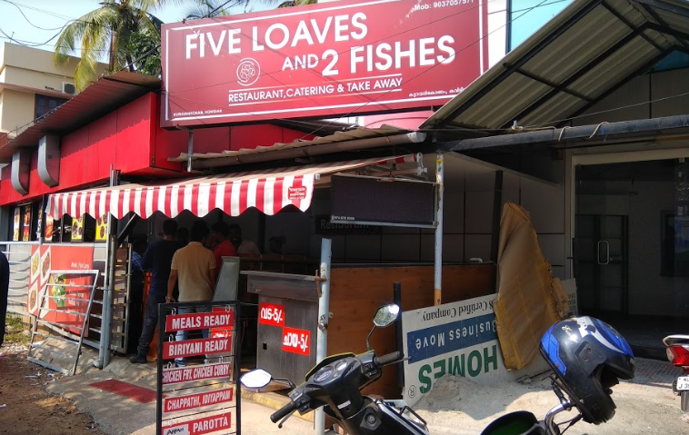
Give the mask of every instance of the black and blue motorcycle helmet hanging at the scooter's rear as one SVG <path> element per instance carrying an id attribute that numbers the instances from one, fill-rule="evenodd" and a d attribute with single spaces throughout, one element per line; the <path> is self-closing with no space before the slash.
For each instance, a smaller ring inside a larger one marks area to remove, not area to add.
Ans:
<path id="1" fill-rule="evenodd" d="M 584 421 L 613 418 L 610 388 L 619 378 L 634 378 L 634 354 L 619 332 L 593 317 L 565 319 L 545 332 L 541 353 Z"/>

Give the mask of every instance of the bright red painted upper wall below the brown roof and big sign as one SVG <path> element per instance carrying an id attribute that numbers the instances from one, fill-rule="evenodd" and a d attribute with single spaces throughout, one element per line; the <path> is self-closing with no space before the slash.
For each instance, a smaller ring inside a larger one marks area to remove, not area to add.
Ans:
<path id="1" fill-rule="evenodd" d="M 31 157 L 29 194 L 26 196 L 15 191 L 10 180 L 11 168 L 5 166 L 0 180 L 0 205 L 35 200 L 46 193 L 105 184 L 110 178 L 111 164 L 123 174 L 170 177 L 180 172 L 180 176 L 185 175 L 182 163 L 168 162 L 167 159 L 186 153 L 189 133 L 160 128 L 159 112 L 159 95 L 150 93 L 63 136 L 57 187 L 48 187 L 38 176 L 37 151 Z M 270 124 L 196 129 L 194 152 L 253 149 L 290 143 L 300 138 L 313 136 Z"/>

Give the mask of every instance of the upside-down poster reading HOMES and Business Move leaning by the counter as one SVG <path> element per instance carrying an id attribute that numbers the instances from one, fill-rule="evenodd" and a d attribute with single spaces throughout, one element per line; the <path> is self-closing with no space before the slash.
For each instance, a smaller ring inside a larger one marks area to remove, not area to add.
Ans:
<path id="1" fill-rule="evenodd" d="M 497 340 L 496 294 L 402 313 L 403 397 L 409 406 L 444 376 L 461 376 L 486 385 L 545 371 L 537 360 L 521 371 L 507 371 Z"/>

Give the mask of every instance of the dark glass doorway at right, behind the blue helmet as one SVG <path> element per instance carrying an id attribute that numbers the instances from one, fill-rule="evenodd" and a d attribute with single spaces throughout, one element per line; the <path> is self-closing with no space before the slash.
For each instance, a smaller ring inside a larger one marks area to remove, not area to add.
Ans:
<path id="1" fill-rule="evenodd" d="M 611 323 L 640 356 L 665 359 L 664 336 L 689 324 L 689 160 L 575 171 L 579 312 Z"/>

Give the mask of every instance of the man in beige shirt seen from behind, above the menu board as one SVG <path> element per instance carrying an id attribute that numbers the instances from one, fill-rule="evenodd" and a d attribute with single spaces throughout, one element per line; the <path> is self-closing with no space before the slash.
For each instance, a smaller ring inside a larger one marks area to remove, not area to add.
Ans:
<path id="1" fill-rule="evenodd" d="M 208 237 L 208 226 L 204 221 L 196 221 L 189 232 L 191 242 L 175 252 L 173 256 L 170 278 L 167 280 L 166 302 L 208 302 L 213 299 L 215 291 L 215 255 L 213 251 L 204 247 Z M 179 297 L 175 298 L 175 283 L 179 282 Z M 180 308 L 178 314 L 192 312 L 207 312 L 205 307 Z M 209 331 L 203 331 L 204 338 L 208 338 Z M 177 331 L 176 341 L 185 341 L 187 331 Z M 177 367 L 185 367 L 184 358 L 175 358 Z"/>

